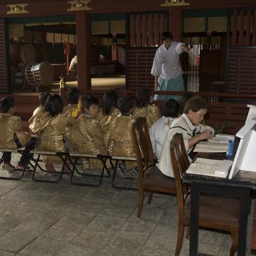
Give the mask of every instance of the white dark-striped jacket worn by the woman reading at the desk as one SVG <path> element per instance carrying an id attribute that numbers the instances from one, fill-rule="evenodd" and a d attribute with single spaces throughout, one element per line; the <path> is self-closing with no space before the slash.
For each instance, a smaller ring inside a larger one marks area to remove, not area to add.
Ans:
<path id="1" fill-rule="evenodd" d="M 210 132 L 214 133 L 214 129 L 212 129 L 210 126 L 205 126 L 202 124 L 197 126 L 193 125 L 186 114 L 182 114 L 179 118 L 172 122 L 170 131 L 168 131 L 168 134 L 164 140 L 161 157 L 158 164 L 158 168 L 161 170 L 161 172 L 164 173 L 164 175 L 173 177 L 172 162 L 170 156 L 170 141 L 172 140 L 173 135 L 177 132 L 182 133 L 184 144 L 187 153 L 189 154 L 193 147 L 188 148 L 188 140 L 198 135 L 200 132 L 204 132 L 205 130 L 209 130 Z"/>

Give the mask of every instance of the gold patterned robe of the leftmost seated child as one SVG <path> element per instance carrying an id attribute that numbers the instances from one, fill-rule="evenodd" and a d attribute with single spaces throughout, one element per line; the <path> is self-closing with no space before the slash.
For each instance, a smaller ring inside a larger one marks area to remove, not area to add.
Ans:
<path id="1" fill-rule="evenodd" d="M 22 147 L 30 140 L 30 134 L 22 129 L 19 116 L 0 113 L 0 147 L 17 148 L 14 137 L 19 139 Z"/>

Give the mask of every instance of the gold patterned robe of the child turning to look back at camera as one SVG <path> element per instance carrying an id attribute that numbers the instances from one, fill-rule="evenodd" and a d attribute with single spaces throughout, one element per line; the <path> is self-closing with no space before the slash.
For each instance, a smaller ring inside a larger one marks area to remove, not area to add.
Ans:
<path id="1" fill-rule="evenodd" d="M 72 150 L 84 154 L 106 155 L 107 150 L 103 140 L 103 131 L 99 120 L 94 116 L 80 115 L 70 132 L 70 144 Z M 89 159 L 92 169 L 101 169 L 102 162 L 97 159 Z"/>

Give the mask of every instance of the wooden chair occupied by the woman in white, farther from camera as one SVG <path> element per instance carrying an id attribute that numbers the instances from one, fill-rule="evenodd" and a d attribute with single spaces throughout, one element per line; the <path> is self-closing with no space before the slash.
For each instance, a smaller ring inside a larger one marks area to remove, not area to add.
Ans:
<path id="1" fill-rule="evenodd" d="M 155 166 L 154 155 L 145 117 L 137 118 L 132 124 L 132 139 L 139 172 L 139 203 L 138 214 L 141 216 L 144 192 L 148 191 L 148 204 L 152 201 L 154 192 L 176 194 L 175 181 L 168 179 Z"/>

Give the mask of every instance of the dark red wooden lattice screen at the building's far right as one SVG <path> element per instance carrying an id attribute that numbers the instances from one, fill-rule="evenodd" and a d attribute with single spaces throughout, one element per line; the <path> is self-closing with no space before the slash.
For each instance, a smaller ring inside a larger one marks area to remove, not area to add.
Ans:
<path id="1" fill-rule="evenodd" d="M 256 93 L 256 10 L 234 10 L 228 19 L 227 91 Z"/>

